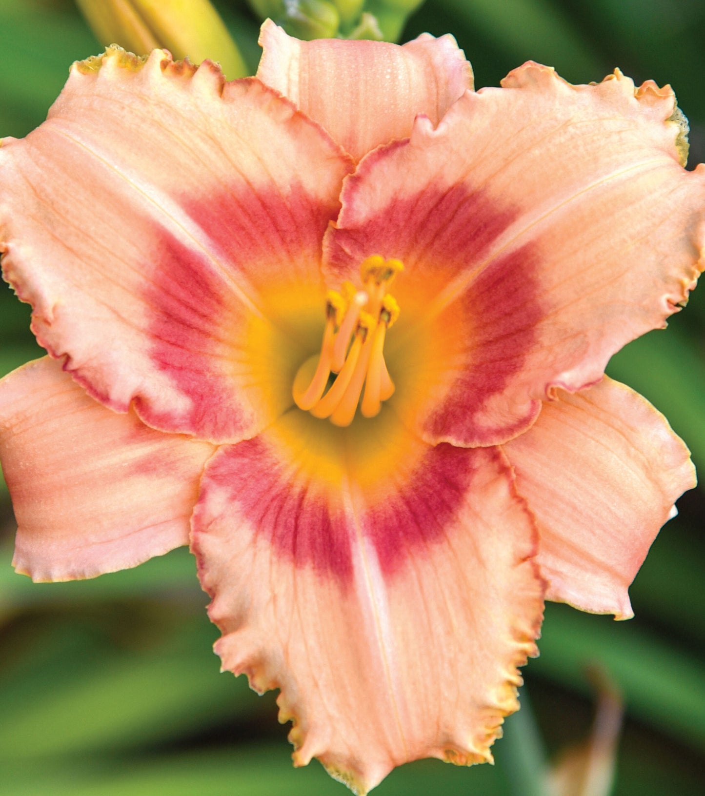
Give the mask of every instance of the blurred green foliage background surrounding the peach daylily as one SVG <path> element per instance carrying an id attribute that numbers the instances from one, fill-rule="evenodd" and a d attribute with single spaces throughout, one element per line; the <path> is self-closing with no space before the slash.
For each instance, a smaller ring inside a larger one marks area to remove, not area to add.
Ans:
<path id="1" fill-rule="evenodd" d="M 259 18 L 245 0 L 214 5 L 253 73 Z M 637 84 L 671 83 L 691 123 L 689 166 L 705 159 L 703 0 L 428 0 L 406 21 L 406 10 L 418 2 L 369 5 L 391 8 L 391 21 L 382 12 L 379 19 L 401 31 L 401 41 L 425 30 L 453 33 L 472 61 L 477 87 L 499 84 L 530 58 L 574 83 L 601 80 L 616 66 Z M 0 0 L 0 135 L 22 136 L 41 123 L 69 64 L 101 49 L 72 0 Z M 701 291 L 668 331 L 617 354 L 609 373 L 668 416 L 705 472 Z M 28 326 L 29 308 L 2 285 L 0 375 L 41 355 Z M 598 693 L 615 718 L 617 700 L 609 695 L 617 692 L 625 720 L 612 793 L 703 794 L 703 489 L 686 494 L 679 508 L 636 577 L 636 618 L 617 623 L 547 606 L 541 657 L 524 669 L 523 710 L 507 720 L 495 767 L 413 763 L 375 793 L 546 796 L 546 771 L 579 761 Z M 258 697 L 245 678 L 218 673 L 210 650 L 217 630 L 206 618 L 206 596 L 186 550 L 92 581 L 34 585 L 10 567 L 13 536 L 3 484 L 2 796 L 346 792 L 318 763 L 291 767 L 288 727 L 276 722 L 274 695 Z M 602 719 L 604 726 L 605 714 Z M 564 790 L 562 796 L 603 793 Z"/>

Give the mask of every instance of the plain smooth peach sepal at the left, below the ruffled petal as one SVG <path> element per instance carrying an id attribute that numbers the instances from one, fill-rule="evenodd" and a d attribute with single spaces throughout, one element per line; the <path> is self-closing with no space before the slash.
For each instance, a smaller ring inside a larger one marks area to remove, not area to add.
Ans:
<path id="1" fill-rule="evenodd" d="M 0 458 L 33 580 L 92 578 L 187 544 L 208 443 L 148 428 L 86 395 L 58 362 L 0 381 Z"/>

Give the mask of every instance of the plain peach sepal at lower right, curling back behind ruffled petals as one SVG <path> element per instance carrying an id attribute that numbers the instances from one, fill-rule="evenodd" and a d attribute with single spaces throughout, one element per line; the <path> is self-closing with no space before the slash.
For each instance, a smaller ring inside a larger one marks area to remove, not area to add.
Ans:
<path id="1" fill-rule="evenodd" d="M 547 597 L 632 616 L 627 589 L 676 498 L 695 486 L 664 416 L 605 377 L 576 395 L 559 391 L 504 451 L 539 522 Z"/>

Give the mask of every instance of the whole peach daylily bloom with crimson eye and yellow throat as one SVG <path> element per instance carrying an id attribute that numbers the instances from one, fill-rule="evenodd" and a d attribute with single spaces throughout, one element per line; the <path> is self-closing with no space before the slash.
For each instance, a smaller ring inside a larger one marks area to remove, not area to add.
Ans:
<path id="1" fill-rule="evenodd" d="M 108 49 L 3 142 L 2 265 L 50 355 L 0 386 L 14 564 L 190 542 L 224 668 L 365 793 L 491 759 L 544 595 L 631 615 L 695 481 L 603 373 L 694 286 L 705 170 L 620 72 L 473 92 L 452 37 L 262 43 L 233 83 Z"/>

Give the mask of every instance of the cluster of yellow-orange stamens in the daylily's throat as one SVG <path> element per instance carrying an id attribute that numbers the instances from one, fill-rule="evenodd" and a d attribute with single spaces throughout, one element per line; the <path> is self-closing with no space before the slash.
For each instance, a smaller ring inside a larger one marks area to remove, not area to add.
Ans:
<path id="1" fill-rule="evenodd" d="M 292 388 L 296 406 L 314 417 L 327 417 L 336 426 L 349 426 L 364 385 L 362 416 L 379 413 L 382 401 L 394 392 L 384 341 L 399 315 L 399 306 L 386 289 L 403 269 L 401 260 L 368 257 L 360 266 L 364 290 L 346 282 L 340 292 L 328 291 L 321 352 L 309 357 L 296 373 Z M 331 373 L 337 375 L 326 392 Z"/>

